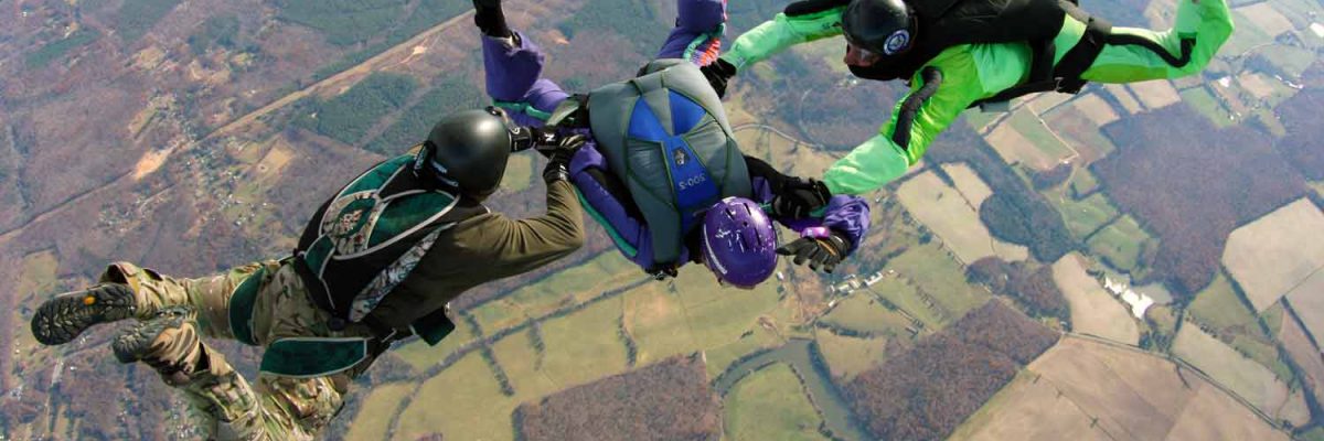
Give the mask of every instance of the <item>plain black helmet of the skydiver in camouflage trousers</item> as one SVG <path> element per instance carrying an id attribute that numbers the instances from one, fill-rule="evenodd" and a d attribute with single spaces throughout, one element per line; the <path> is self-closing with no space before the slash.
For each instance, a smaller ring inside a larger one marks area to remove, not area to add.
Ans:
<path id="1" fill-rule="evenodd" d="M 489 107 L 446 115 L 432 127 L 426 144 L 438 180 L 483 200 L 500 187 L 512 140 L 504 114 Z"/>

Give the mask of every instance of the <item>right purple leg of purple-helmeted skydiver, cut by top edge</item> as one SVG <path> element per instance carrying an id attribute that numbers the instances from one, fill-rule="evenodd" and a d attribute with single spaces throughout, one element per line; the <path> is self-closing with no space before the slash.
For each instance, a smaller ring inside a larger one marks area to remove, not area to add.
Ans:
<path id="1" fill-rule="evenodd" d="M 657 58 L 685 58 L 704 66 L 722 52 L 726 0 L 677 0 L 675 28 L 667 34 Z"/>

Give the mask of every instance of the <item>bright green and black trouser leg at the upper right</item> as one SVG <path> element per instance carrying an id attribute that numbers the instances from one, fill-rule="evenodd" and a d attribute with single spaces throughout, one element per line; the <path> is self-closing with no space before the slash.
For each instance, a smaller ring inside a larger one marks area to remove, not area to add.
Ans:
<path id="1" fill-rule="evenodd" d="M 1113 37 L 1082 78 L 1120 83 L 1196 74 L 1214 58 L 1231 32 L 1226 0 L 1180 0 L 1172 29 L 1113 28 Z M 1182 40 L 1189 38 L 1194 38 L 1190 60 L 1180 68 L 1169 64 L 1165 58 L 1181 57 Z M 1160 49 L 1170 57 L 1156 52 Z"/>

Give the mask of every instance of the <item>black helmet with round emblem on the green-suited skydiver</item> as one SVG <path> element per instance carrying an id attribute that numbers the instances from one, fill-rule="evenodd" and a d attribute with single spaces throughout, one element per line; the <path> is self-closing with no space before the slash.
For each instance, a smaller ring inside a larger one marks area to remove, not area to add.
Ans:
<path id="1" fill-rule="evenodd" d="M 915 20 L 902 0 L 851 0 L 841 15 L 841 30 L 857 48 L 895 56 L 914 44 Z"/>

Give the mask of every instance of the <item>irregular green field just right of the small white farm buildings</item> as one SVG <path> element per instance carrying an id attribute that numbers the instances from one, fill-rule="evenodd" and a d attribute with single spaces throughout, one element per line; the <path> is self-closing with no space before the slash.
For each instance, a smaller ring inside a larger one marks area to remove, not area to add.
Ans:
<path id="1" fill-rule="evenodd" d="M 911 246 L 887 262 L 887 269 L 916 283 L 923 290 L 916 293 L 922 299 L 928 294 L 935 303 L 933 307 L 941 311 L 939 314 L 944 324 L 964 317 L 989 299 L 988 291 L 965 282 L 965 269 L 936 241 Z"/>

